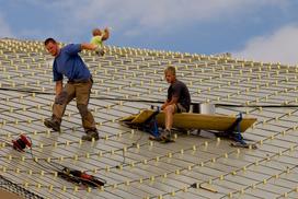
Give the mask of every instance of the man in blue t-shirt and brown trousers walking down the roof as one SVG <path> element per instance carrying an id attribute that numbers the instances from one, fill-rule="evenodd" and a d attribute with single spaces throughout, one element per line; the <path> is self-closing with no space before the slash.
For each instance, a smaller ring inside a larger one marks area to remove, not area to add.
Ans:
<path id="1" fill-rule="evenodd" d="M 45 40 L 47 51 L 55 57 L 53 63 L 54 81 L 56 82 L 56 97 L 53 105 L 53 116 L 45 119 L 46 127 L 60 131 L 61 118 L 67 104 L 76 97 L 77 107 L 82 117 L 85 134 L 82 140 L 99 140 L 99 132 L 94 118 L 88 109 L 91 87 L 93 84 L 91 73 L 78 52 L 82 49 L 96 50 L 93 44 L 70 44 L 62 48 L 54 38 Z M 64 75 L 68 78 L 64 86 Z"/>

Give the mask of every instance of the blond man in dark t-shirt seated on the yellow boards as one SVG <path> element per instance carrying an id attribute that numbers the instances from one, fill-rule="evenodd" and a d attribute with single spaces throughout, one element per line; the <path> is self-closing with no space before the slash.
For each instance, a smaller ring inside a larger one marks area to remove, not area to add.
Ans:
<path id="1" fill-rule="evenodd" d="M 171 138 L 173 115 L 190 112 L 191 95 L 187 86 L 176 79 L 174 67 L 168 67 L 164 70 L 164 77 L 167 82 L 171 84 L 168 89 L 168 99 L 161 106 L 165 115 L 165 130 L 161 133 L 161 139 L 167 140 Z"/>

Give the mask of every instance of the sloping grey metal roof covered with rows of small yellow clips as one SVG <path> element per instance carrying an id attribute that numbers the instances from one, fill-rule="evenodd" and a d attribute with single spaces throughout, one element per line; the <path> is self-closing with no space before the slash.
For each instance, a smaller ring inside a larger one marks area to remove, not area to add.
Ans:
<path id="1" fill-rule="evenodd" d="M 2 189 L 24 198 L 298 198 L 297 67 L 105 48 L 104 57 L 81 52 L 94 79 L 89 108 L 102 137 L 82 142 L 74 102 L 67 106 L 60 133 L 43 125 L 55 97 L 53 57 L 43 42 L 0 39 Z M 134 99 L 165 98 L 168 65 L 176 67 L 193 102 L 218 104 L 217 114 L 257 118 L 243 133 L 257 149 L 232 148 L 231 140 L 208 132 L 177 133 L 174 143 L 162 144 L 122 126 L 119 118 L 151 105 Z M 32 139 L 33 155 L 3 141 L 20 133 Z M 54 164 L 85 171 L 106 185 L 74 185 L 58 177 Z"/>

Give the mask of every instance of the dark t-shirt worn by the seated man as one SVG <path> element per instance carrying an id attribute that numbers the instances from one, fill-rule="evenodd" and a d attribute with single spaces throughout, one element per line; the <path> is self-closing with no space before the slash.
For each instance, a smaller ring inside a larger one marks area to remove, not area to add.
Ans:
<path id="1" fill-rule="evenodd" d="M 168 89 L 168 101 L 171 101 L 172 96 L 177 97 L 177 103 L 180 103 L 186 112 L 190 112 L 191 95 L 187 86 L 183 82 L 176 80 L 170 85 Z"/>

